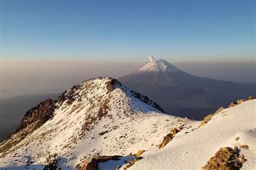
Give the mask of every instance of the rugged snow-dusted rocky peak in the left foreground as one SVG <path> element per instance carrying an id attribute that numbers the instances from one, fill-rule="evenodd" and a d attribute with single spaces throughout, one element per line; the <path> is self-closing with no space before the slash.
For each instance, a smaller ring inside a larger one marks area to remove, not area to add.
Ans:
<path id="1" fill-rule="evenodd" d="M 43 169 L 57 158 L 74 169 L 91 155 L 127 155 L 155 148 L 188 119 L 163 113 L 148 97 L 109 77 L 90 79 L 26 112 L 0 145 L 0 167 Z"/>

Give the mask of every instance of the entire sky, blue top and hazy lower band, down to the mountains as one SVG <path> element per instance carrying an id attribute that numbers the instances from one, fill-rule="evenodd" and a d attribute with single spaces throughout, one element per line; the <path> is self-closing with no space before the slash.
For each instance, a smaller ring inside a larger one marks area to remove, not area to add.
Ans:
<path id="1" fill-rule="evenodd" d="M 256 83 L 255 1 L 0 0 L 0 98 L 60 93 L 164 59 Z"/>

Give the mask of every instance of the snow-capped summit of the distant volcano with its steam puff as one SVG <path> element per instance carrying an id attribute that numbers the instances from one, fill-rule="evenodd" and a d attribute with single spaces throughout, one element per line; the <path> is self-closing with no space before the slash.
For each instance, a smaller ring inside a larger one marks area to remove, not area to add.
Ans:
<path id="1" fill-rule="evenodd" d="M 150 62 L 147 62 L 144 66 L 140 67 L 137 72 L 183 72 L 163 59 L 155 60 L 153 56 L 147 57 Z"/>

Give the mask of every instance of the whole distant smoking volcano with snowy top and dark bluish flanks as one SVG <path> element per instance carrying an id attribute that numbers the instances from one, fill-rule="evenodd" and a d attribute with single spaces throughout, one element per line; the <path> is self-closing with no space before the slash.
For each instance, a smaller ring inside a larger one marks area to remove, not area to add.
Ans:
<path id="1" fill-rule="evenodd" d="M 165 60 L 149 58 L 150 62 L 118 80 L 149 96 L 171 115 L 202 119 L 230 101 L 256 94 L 255 84 L 198 77 Z"/>

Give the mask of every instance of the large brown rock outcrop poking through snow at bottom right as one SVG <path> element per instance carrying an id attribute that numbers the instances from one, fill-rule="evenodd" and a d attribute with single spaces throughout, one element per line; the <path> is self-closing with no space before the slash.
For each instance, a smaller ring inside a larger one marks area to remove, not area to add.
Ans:
<path id="1" fill-rule="evenodd" d="M 204 169 L 240 169 L 242 164 L 246 161 L 244 155 L 239 154 L 238 147 L 224 147 L 220 148 L 214 155 L 214 157 L 208 160 Z"/>

